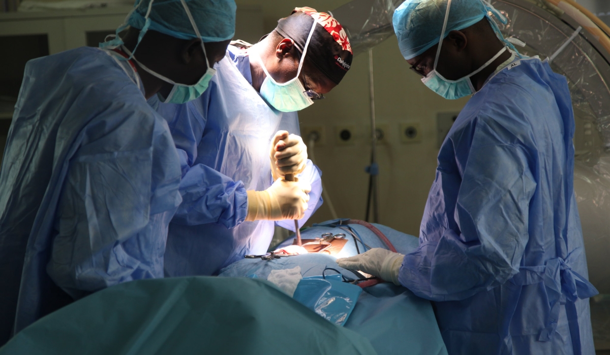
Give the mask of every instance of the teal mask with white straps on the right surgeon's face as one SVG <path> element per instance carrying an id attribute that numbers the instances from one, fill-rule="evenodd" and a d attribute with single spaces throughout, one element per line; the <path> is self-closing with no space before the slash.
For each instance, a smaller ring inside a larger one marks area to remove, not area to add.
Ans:
<path id="1" fill-rule="evenodd" d="M 472 82 L 470 81 L 470 77 L 474 76 L 475 74 L 478 74 L 478 72 L 481 72 L 483 69 L 487 68 L 491 63 L 493 63 L 494 60 L 500 57 L 500 55 L 502 55 L 507 50 L 507 48 L 503 47 L 500 52 L 498 52 L 498 54 L 488 60 L 487 63 L 481 66 L 481 68 L 476 69 L 476 71 L 473 71 L 471 74 L 468 74 L 467 76 L 458 80 L 445 79 L 442 75 L 440 75 L 439 72 L 436 71 L 436 66 L 439 63 L 440 48 L 443 44 L 443 38 L 445 38 L 445 30 L 447 29 L 447 20 L 449 18 L 450 8 L 451 0 L 449 0 L 447 3 L 447 11 L 445 12 L 445 22 L 443 23 L 443 30 L 442 32 L 440 32 L 441 40 L 439 42 L 439 49 L 437 49 L 436 58 L 434 59 L 434 70 L 429 72 L 428 76 L 422 79 L 422 82 L 424 83 L 424 85 L 428 86 L 430 90 L 434 91 L 442 97 L 445 97 L 445 99 L 455 100 L 460 99 L 461 97 L 474 94 L 476 90 L 475 87 L 472 85 Z"/>

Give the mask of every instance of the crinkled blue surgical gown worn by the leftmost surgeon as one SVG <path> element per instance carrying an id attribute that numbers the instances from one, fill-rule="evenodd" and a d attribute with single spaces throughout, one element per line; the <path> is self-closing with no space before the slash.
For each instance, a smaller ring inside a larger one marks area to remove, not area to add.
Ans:
<path id="1" fill-rule="evenodd" d="M 26 65 L 0 172 L 0 344 L 87 293 L 163 277 L 178 153 L 117 55 Z"/>

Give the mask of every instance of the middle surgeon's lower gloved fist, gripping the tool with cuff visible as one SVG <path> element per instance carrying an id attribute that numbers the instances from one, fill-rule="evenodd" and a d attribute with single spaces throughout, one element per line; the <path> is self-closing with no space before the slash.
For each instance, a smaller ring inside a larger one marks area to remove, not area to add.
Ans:
<path id="1" fill-rule="evenodd" d="M 246 191 L 248 216 L 246 220 L 301 219 L 307 211 L 311 185 L 300 181 L 276 180 L 265 191 Z"/>

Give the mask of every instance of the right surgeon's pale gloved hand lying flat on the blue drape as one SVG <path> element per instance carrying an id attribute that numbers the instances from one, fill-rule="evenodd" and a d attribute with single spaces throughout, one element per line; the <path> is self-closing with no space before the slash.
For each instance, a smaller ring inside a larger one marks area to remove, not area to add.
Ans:
<path id="1" fill-rule="evenodd" d="M 403 258 L 402 254 L 373 248 L 360 255 L 337 259 L 337 264 L 343 269 L 360 270 L 400 286 L 398 272 L 403 265 Z"/>

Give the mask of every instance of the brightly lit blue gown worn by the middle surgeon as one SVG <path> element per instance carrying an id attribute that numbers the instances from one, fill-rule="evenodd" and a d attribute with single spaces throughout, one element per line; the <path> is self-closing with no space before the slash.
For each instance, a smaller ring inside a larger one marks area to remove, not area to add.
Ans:
<path id="1" fill-rule="evenodd" d="M 265 253 L 272 221 L 243 222 L 246 190 L 273 183 L 269 149 L 278 130 L 299 134 L 296 112 L 273 110 L 252 87 L 249 57 L 229 46 L 216 66 L 208 90 L 185 105 L 152 107 L 168 120 L 181 156 L 183 198 L 170 223 L 165 273 L 169 276 L 215 275 L 247 254 Z M 299 178 L 312 185 L 303 225 L 322 203 L 321 172 L 311 161 Z M 294 229 L 292 220 L 278 222 Z"/>

